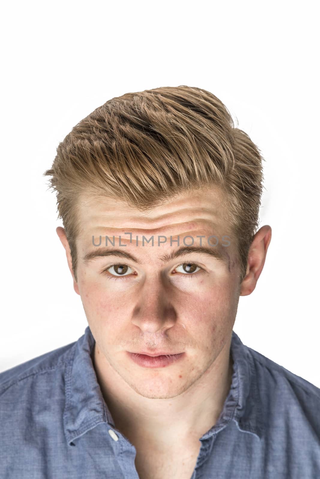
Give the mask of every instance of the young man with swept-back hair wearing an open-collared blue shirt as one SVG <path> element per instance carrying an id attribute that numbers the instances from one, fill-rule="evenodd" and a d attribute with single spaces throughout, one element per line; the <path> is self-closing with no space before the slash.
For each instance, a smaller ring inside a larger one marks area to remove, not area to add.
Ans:
<path id="1" fill-rule="evenodd" d="M 233 331 L 271 240 L 262 158 L 212 93 L 97 108 L 57 149 L 89 326 L 0 374 L 1 478 L 320 477 L 320 389 Z"/>

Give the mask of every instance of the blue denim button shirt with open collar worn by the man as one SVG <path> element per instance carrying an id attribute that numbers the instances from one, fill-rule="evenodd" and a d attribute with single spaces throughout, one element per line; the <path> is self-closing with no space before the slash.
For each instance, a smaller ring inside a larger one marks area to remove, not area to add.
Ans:
<path id="1" fill-rule="evenodd" d="M 139 478 L 135 447 L 102 397 L 94 344 L 88 326 L 78 341 L 0 373 L 1 479 Z M 234 331 L 230 352 L 230 391 L 191 479 L 319 479 L 320 389 Z"/>

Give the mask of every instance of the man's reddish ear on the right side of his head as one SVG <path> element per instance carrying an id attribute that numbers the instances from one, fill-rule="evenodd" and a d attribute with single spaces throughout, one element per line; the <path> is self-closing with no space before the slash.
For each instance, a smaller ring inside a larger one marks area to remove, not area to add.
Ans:
<path id="1" fill-rule="evenodd" d="M 248 296 L 256 287 L 266 259 L 267 250 L 271 241 L 271 234 L 271 227 L 265 225 L 254 235 L 249 249 L 246 276 L 240 287 L 240 296 Z"/>

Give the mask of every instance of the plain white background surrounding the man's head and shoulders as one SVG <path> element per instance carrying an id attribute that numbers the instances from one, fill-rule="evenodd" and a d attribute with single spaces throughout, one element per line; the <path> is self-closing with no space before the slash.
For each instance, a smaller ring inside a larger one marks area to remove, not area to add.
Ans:
<path id="1" fill-rule="evenodd" d="M 87 326 L 42 176 L 59 142 L 115 96 L 188 85 L 220 98 L 266 160 L 273 236 L 234 331 L 320 387 L 318 23 L 315 1 L 6 2 L 0 371 Z"/>

